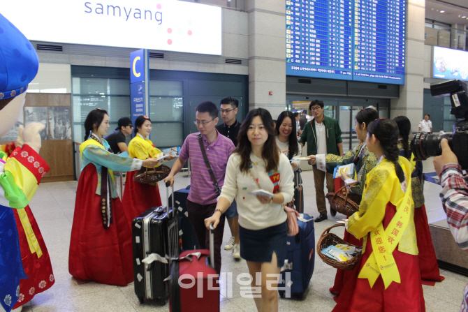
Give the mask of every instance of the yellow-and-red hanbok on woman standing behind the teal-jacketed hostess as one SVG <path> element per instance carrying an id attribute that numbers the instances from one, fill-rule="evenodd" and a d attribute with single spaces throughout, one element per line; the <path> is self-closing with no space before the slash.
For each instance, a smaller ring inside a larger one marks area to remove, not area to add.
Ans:
<path id="1" fill-rule="evenodd" d="M 143 138 L 140 133 L 137 133 L 129 143 L 129 156 L 143 161 L 148 158 L 161 157 L 163 152 L 156 149 L 149 139 Z M 135 171 L 126 174 L 124 196 L 122 198 L 122 206 L 124 206 L 125 214 L 130 220 L 130 227 L 133 218 L 143 211 L 151 207 L 161 206 L 158 184 L 141 184 L 133 181 L 135 174 Z"/>

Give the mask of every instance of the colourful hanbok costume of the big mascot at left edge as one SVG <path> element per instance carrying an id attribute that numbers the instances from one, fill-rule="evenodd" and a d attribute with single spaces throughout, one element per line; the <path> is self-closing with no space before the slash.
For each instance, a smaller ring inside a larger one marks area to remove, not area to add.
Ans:
<path id="1" fill-rule="evenodd" d="M 27 144 L 13 147 L 0 149 L 0 304 L 7 312 L 54 283 L 47 248 L 28 207 L 50 168 Z"/>

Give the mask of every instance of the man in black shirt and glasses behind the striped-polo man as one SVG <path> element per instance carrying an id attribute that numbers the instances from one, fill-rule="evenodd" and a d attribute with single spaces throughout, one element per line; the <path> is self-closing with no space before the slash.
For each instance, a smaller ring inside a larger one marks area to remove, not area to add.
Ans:
<path id="1" fill-rule="evenodd" d="M 224 135 L 227 138 L 230 138 L 233 141 L 234 145 L 237 146 L 237 134 L 240 129 L 240 122 L 235 119 L 235 114 L 237 114 L 237 106 L 239 101 L 235 98 L 228 96 L 223 98 L 219 103 L 221 106 L 221 119 L 223 119 L 224 124 L 216 126 L 219 133 Z M 240 245 L 239 245 L 239 215 L 237 214 L 237 205 L 235 200 L 231 206 L 224 213 L 228 219 L 229 228 L 231 229 L 231 239 L 229 239 L 228 244 L 224 246 L 226 251 L 233 251 L 233 257 L 240 259 Z"/>

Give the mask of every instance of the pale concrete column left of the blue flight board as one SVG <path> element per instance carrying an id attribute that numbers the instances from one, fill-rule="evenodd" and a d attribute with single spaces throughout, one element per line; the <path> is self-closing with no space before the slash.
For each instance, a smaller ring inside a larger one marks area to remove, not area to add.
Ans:
<path id="1" fill-rule="evenodd" d="M 246 10 L 249 108 L 265 108 L 276 119 L 286 106 L 286 1 L 247 0 Z"/>

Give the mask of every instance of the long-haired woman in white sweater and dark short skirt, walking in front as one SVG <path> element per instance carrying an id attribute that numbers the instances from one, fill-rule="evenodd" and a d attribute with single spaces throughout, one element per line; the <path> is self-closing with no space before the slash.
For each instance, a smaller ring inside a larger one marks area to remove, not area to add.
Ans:
<path id="1" fill-rule="evenodd" d="M 228 209 L 237 195 L 240 256 L 247 260 L 252 293 L 258 311 L 278 311 L 277 276 L 286 258 L 286 212 L 293 199 L 293 170 L 275 143 L 275 128 L 268 110 L 251 110 L 240 126 L 237 148 L 229 158 L 224 186 L 207 228 Z M 259 188 L 272 197 L 250 195 Z M 261 281 L 256 281 L 256 273 Z M 268 284 L 267 284 L 268 281 Z M 258 287 L 258 285 L 261 285 Z M 269 287 L 267 287 L 267 285 Z M 257 287 L 257 288 L 256 288 Z"/>

